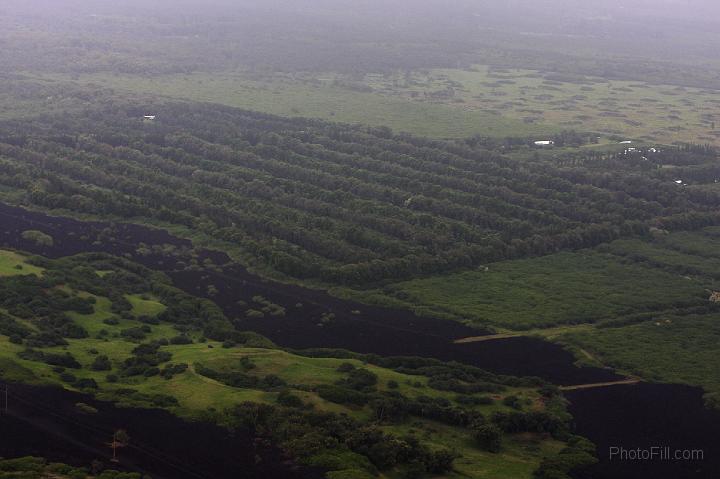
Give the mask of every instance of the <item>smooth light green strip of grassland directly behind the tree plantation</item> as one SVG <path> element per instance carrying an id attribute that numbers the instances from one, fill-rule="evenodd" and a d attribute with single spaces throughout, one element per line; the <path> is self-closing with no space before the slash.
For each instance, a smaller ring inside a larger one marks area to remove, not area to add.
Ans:
<path id="1" fill-rule="evenodd" d="M 398 132 L 433 138 L 464 138 L 476 134 L 490 137 L 527 136 L 559 131 L 556 127 L 526 124 L 519 119 L 480 109 L 408 101 L 364 89 L 348 88 L 335 83 L 334 75 L 319 79 L 243 73 L 197 73 L 152 78 L 81 75 L 75 81 L 121 92 L 218 103 L 286 117 L 302 116 L 389 126 Z"/>

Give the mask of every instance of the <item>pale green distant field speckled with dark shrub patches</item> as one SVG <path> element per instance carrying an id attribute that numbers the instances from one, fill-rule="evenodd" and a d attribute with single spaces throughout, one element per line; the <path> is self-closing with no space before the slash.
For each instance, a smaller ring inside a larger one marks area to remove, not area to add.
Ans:
<path id="1" fill-rule="evenodd" d="M 715 91 L 485 66 L 367 75 L 363 83 L 393 98 L 502 112 L 529 124 L 663 144 L 720 143 Z"/>

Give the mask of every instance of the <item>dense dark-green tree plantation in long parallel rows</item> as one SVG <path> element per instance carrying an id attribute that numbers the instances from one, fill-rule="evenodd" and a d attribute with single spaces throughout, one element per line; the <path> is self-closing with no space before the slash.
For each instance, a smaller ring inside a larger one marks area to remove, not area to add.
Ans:
<path id="1" fill-rule="evenodd" d="M 144 122 L 147 109 L 0 125 L 0 184 L 36 206 L 188 226 L 342 284 L 594 246 L 717 205 L 658 174 L 513 160 L 481 142 L 197 104 L 154 105 Z"/>

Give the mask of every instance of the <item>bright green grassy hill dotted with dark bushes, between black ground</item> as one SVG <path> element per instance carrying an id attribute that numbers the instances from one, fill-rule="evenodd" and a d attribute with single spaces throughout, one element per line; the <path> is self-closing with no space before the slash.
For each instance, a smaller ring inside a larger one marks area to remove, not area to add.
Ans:
<path id="1" fill-rule="evenodd" d="M 8 298 L 0 312 L 5 379 L 261 428 L 300 462 L 334 477 L 452 475 L 453 460 L 486 457 L 498 471 L 529 478 L 540 452 L 555 451 L 569 432 L 557 389 L 537 379 L 424 358 L 283 351 L 235 331 L 216 305 L 127 260 L 92 254 L 37 261 L 43 278 L 0 278 Z M 258 344 L 264 347 L 252 347 Z M 87 404 L 76 408 L 96 413 Z M 433 430 L 447 437 L 431 442 L 406 428 L 420 418 L 437 421 Z M 476 437 L 486 423 L 496 424 L 493 452 Z M 513 439 L 519 432 L 537 437 L 524 460 Z M 483 477 L 465 466 L 466 477 Z"/>

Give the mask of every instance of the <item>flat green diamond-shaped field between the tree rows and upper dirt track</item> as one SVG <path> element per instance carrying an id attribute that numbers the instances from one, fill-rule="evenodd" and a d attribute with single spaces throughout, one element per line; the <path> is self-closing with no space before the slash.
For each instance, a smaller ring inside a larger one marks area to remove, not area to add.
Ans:
<path id="1" fill-rule="evenodd" d="M 407 303 L 496 328 L 532 329 L 706 300 L 702 285 L 594 252 L 505 261 L 389 287 Z"/>

